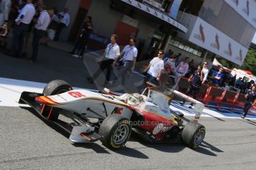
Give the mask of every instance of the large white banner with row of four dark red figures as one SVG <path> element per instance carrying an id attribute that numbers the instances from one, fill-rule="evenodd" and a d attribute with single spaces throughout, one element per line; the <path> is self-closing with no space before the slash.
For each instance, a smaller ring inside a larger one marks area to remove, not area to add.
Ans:
<path id="1" fill-rule="evenodd" d="M 197 18 L 188 40 L 238 65 L 243 64 L 248 51 L 246 47 L 201 18 Z"/>

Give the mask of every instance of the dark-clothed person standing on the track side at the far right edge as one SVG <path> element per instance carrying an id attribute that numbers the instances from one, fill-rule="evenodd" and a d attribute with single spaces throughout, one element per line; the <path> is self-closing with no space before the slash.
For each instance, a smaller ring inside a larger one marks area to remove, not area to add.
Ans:
<path id="1" fill-rule="evenodd" d="M 241 116 L 241 118 L 246 118 L 246 115 L 250 109 L 251 106 L 254 106 L 256 103 L 256 86 L 252 86 L 252 89 L 249 90 L 246 93 L 246 101 L 244 102 L 244 106 L 243 106 L 243 115 Z"/>

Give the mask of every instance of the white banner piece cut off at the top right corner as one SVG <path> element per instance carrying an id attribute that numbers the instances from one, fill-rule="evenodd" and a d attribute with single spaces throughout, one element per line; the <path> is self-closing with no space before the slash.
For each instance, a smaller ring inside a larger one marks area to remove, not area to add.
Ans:
<path id="1" fill-rule="evenodd" d="M 255 0 L 225 0 L 240 16 L 256 28 L 256 1 Z"/>

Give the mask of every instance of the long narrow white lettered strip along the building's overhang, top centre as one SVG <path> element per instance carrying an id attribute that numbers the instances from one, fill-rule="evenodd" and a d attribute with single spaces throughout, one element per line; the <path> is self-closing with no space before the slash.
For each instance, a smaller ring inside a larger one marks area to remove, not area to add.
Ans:
<path id="1" fill-rule="evenodd" d="M 170 16 L 168 16 L 168 14 L 160 12 L 159 10 L 154 10 L 151 7 L 148 7 L 145 4 L 142 4 L 138 1 L 135 0 L 121 0 L 127 4 L 130 4 L 140 10 L 145 11 L 146 13 L 151 14 L 152 16 L 155 16 L 157 18 L 162 19 L 165 22 L 168 22 L 168 24 L 173 25 L 174 27 L 177 27 L 178 29 L 182 30 L 184 33 L 187 33 L 188 29 L 186 27 L 184 27 L 182 24 L 180 24 L 179 22 L 175 21 L 174 19 L 172 19 Z"/>

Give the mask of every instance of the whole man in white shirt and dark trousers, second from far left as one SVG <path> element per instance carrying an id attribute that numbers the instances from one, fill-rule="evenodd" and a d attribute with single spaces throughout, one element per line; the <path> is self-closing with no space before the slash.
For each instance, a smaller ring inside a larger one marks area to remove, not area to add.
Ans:
<path id="1" fill-rule="evenodd" d="M 30 58 L 30 62 L 36 62 L 36 56 L 39 51 L 39 41 L 45 35 L 48 25 L 50 24 L 50 16 L 47 13 L 47 10 L 44 6 L 39 6 L 40 16 L 37 19 L 35 29 L 33 32 L 33 49 L 32 49 L 32 57 Z"/>

